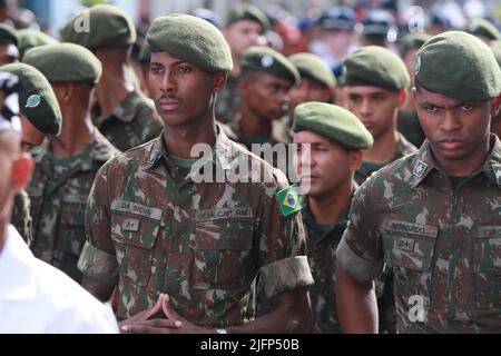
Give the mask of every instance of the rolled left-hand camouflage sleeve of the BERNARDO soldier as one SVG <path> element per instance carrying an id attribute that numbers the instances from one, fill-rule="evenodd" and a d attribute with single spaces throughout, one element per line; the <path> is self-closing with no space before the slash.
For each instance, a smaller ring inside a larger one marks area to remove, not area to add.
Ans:
<path id="1" fill-rule="evenodd" d="M 370 179 L 355 192 L 350 222 L 336 251 L 337 266 L 360 280 L 376 278 L 384 266 L 373 184 Z"/>

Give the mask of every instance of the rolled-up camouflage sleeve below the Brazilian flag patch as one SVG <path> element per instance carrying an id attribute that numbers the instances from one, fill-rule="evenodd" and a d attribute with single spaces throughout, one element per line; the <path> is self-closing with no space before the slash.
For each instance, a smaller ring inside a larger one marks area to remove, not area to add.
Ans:
<path id="1" fill-rule="evenodd" d="M 261 211 L 259 283 L 268 298 L 313 284 L 301 212 L 283 216 L 277 199 L 283 188 L 267 190 Z"/>

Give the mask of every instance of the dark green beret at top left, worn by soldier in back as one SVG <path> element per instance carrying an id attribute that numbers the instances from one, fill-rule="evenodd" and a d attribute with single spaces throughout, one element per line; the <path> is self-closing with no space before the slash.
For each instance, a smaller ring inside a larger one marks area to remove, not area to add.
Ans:
<path id="1" fill-rule="evenodd" d="M 86 31 L 84 26 L 82 19 L 86 16 L 89 19 L 89 31 Z M 96 4 L 77 13 L 63 26 L 60 34 L 62 41 L 86 48 L 118 48 L 136 42 L 136 27 L 132 19 L 120 8 L 111 4 Z"/>

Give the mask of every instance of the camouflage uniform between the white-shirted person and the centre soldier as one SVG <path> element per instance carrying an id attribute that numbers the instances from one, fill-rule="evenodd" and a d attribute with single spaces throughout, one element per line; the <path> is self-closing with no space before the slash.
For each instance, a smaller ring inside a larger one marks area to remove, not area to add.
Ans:
<path id="1" fill-rule="evenodd" d="M 77 261 L 86 241 L 84 219 L 98 169 L 118 151 L 95 129 L 84 154 L 70 162 L 55 165 L 49 150 L 35 157 L 33 179 L 28 187 L 33 217 L 36 257 L 61 269 L 77 281 Z"/>

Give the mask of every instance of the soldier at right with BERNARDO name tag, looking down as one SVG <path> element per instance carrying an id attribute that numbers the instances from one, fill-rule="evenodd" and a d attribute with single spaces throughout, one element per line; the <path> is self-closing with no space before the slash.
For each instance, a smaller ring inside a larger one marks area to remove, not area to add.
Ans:
<path id="1" fill-rule="evenodd" d="M 400 333 L 501 330 L 501 142 L 489 135 L 501 70 L 482 41 L 449 31 L 419 51 L 418 113 L 428 141 L 353 198 L 337 248 L 344 332 L 375 332 L 372 280 L 395 275 Z"/>

